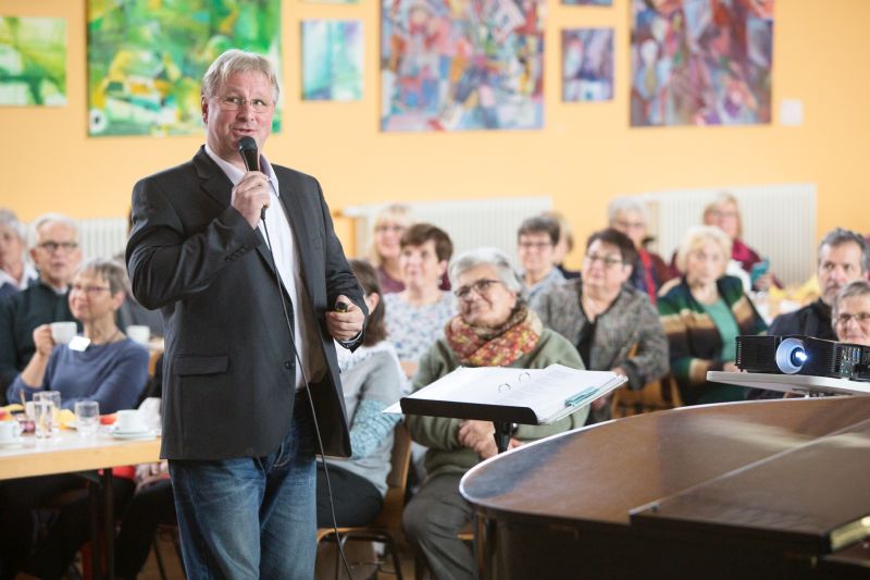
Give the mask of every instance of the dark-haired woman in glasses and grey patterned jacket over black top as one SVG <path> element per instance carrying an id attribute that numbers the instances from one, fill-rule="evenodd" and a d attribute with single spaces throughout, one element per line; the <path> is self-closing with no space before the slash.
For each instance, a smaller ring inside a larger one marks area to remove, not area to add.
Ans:
<path id="1" fill-rule="evenodd" d="M 614 229 L 586 240 L 580 280 L 556 285 L 532 300 L 544 325 L 568 338 L 587 369 L 629 378 L 630 388 L 668 373 L 668 338 L 644 292 L 625 283 L 637 254 Z M 593 403 L 593 422 L 610 418 L 607 397 Z"/>

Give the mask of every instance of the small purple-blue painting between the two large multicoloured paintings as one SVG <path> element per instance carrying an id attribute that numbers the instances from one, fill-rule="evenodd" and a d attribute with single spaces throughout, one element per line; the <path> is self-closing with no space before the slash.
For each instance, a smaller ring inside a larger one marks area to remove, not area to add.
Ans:
<path id="1" fill-rule="evenodd" d="M 562 30 L 562 100 L 613 98 L 613 29 Z"/>

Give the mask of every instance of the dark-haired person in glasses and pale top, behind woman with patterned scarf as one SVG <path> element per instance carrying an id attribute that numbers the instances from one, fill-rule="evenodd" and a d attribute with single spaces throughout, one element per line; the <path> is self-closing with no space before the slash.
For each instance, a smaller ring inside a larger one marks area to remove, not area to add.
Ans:
<path id="1" fill-rule="evenodd" d="M 559 222 L 552 218 L 529 218 L 520 225 L 517 238 L 530 301 L 545 288 L 564 282 L 564 275 L 552 263 L 554 248 L 559 242 Z"/>

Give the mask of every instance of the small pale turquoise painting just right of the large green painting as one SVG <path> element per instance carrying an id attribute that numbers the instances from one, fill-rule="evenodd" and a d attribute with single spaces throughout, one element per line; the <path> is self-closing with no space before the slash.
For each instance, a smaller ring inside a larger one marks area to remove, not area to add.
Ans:
<path id="1" fill-rule="evenodd" d="M 362 22 L 302 22 L 302 99 L 362 98 Z"/>

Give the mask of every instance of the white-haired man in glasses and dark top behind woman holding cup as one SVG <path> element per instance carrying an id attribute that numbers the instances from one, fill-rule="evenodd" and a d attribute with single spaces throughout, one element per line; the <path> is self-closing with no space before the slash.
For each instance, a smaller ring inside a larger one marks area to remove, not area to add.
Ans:
<path id="1" fill-rule="evenodd" d="M 34 329 L 74 320 L 70 311 L 70 280 L 82 250 L 78 231 L 70 218 L 47 213 L 34 222 L 36 245 L 30 258 L 39 280 L 0 304 L 0 392 L 5 392 L 34 354 Z"/>

